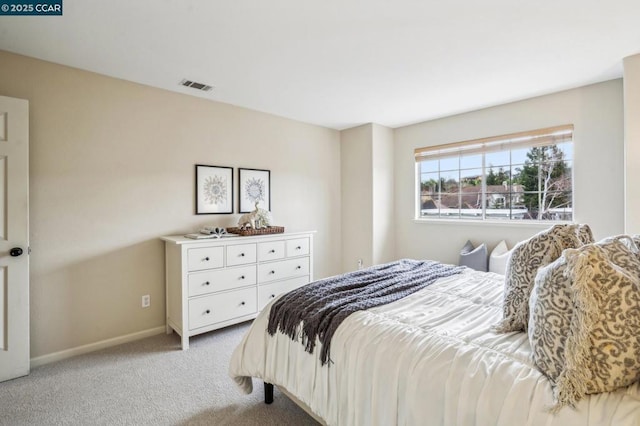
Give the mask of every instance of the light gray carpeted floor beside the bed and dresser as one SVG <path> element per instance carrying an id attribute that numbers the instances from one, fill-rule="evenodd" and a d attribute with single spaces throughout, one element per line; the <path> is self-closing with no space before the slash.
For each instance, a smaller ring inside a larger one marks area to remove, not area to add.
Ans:
<path id="1" fill-rule="evenodd" d="M 0 383 L 0 425 L 317 425 L 262 382 L 244 395 L 227 371 L 249 323 L 190 339 L 174 333 L 69 358 Z"/>

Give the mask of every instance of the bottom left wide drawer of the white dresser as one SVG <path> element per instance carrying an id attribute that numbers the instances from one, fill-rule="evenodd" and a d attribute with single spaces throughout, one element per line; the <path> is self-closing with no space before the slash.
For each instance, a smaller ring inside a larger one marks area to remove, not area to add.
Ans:
<path id="1" fill-rule="evenodd" d="M 257 311 L 256 289 L 246 288 L 189 300 L 189 329 L 206 327 Z"/>

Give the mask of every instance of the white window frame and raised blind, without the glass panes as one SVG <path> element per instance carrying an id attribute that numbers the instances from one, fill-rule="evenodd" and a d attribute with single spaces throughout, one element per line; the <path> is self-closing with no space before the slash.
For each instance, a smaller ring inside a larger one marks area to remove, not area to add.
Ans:
<path id="1" fill-rule="evenodd" d="M 416 148 L 414 151 L 415 157 L 415 190 L 414 190 L 414 200 L 415 200 L 415 214 L 414 220 L 416 222 L 444 222 L 444 223 L 500 223 L 500 224 L 522 224 L 522 225 L 535 225 L 535 224 L 544 224 L 548 225 L 550 223 L 557 222 L 572 222 L 575 220 L 575 209 L 574 206 L 574 194 L 575 194 L 575 181 L 573 179 L 573 174 L 575 172 L 575 156 L 571 158 L 569 161 L 572 163 L 571 167 L 571 220 L 558 220 L 558 219 L 513 219 L 511 217 L 498 219 L 498 218 L 488 218 L 487 217 L 487 206 L 485 203 L 482 203 L 482 213 L 481 218 L 479 219 L 471 219 L 469 217 L 465 218 L 460 215 L 456 215 L 455 217 L 443 217 L 440 214 L 437 217 L 428 217 L 422 216 L 422 188 L 421 188 L 421 171 L 420 171 L 420 163 L 425 160 L 431 159 L 443 159 L 443 158 L 451 158 L 456 155 L 462 154 L 487 154 L 497 151 L 507 151 L 518 148 L 533 148 L 533 147 L 542 147 L 555 145 L 565 142 L 571 142 L 573 144 L 574 133 L 573 125 L 561 125 L 554 126 L 544 129 L 526 131 L 526 132 L 518 132 L 511 133 L 507 135 L 494 136 L 482 139 L 474 139 L 463 142 L 455 142 L 444 145 L 436 145 L 424 148 Z M 513 163 L 511 163 L 513 164 Z M 485 164 L 485 156 L 483 155 L 482 160 L 482 199 L 486 199 L 486 176 L 487 176 L 487 165 Z M 442 193 L 442 192 L 440 192 Z M 461 196 L 462 191 L 459 191 Z"/>

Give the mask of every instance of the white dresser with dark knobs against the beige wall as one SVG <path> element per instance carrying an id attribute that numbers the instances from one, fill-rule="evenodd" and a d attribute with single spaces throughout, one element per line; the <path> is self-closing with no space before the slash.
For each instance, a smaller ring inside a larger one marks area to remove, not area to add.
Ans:
<path id="1" fill-rule="evenodd" d="M 313 232 L 165 242 L 167 334 L 189 337 L 256 317 L 313 280 Z"/>

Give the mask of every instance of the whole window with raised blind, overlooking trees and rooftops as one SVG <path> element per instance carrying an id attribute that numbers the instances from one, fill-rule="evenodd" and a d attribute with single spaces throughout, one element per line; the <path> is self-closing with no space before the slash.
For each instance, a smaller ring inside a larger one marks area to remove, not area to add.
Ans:
<path id="1" fill-rule="evenodd" d="M 417 217 L 572 220 L 573 126 L 415 150 Z"/>

